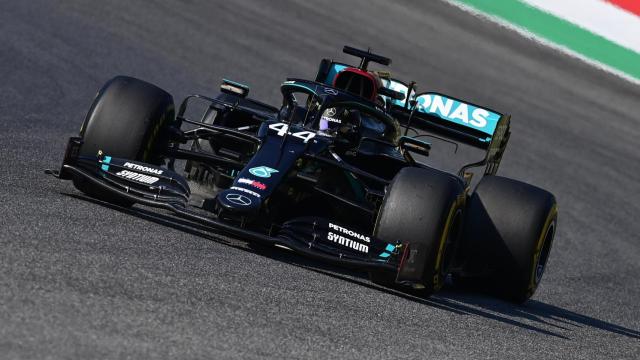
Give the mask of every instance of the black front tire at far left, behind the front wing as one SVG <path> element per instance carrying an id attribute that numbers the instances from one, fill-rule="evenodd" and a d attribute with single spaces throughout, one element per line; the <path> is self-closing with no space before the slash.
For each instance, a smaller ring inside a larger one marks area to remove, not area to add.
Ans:
<path id="1" fill-rule="evenodd" d="M 117 76 L 100 89 L 80 129 L 80 156 L 102 153 L 124 159 L 161 164 L 167 146 L 167 126 L 174 121 L 173 97 L 148 82 Z M 121 206 L 131 201 L 104 193 L 83 178 L 74 186 L 85 194 Z"/>

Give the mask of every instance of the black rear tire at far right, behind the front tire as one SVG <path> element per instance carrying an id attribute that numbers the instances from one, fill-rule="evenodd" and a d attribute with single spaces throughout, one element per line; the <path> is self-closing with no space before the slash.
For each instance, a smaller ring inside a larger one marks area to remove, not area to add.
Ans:
<path id="1" fill-rule="evenodd" d="M 454 282 L 525 302 L 540 284 L 556 226 L 557 206 L 551 193 L 517 180 L 486 176 L 469 200 L 462 241 L 468 260 Z"/>

